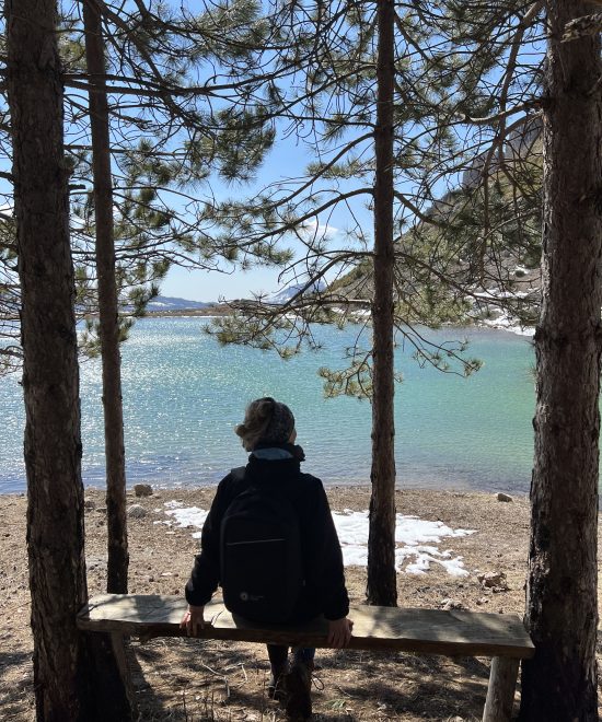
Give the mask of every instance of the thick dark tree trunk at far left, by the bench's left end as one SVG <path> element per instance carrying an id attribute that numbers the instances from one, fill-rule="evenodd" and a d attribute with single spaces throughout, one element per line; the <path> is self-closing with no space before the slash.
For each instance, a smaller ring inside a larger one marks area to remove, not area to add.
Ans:
<path id="1" fill-rule="evenodd" d="M 27 555 L 37 719 L 127 720 L 113 653 L 76 627 L 88 601 L 69 173 L 55 0 L 8 0 L 7 86 L 22 292 Z M 101 636 L 102 637 L 102 636 Z M 106 695 L 97 695 L 99 674 Z"/>

